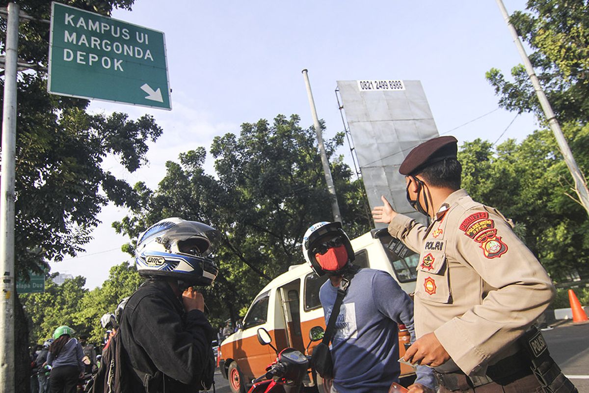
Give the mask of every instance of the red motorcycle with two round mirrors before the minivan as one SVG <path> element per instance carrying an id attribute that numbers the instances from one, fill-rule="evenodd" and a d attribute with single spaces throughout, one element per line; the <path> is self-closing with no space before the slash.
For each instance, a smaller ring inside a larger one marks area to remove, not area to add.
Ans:
<path id="1" fill-rule="evenodd" d="M 323 328 L 320 326 L 312 328 L 309 332 L 309 345 L 313 341 L 322 339 L 322 333 Z M 301 393 L 311 357 L 303 355 L 294 348 L 285 348 L 278 352 L 271 344 L 272 338 L 264 328 L 257 330 L 257 339 L 262 345 L 270 345 L 276 351 L 277 357 L 266 367 L 266 374 L 252 381 L 253 385 L 248 393 Z M 309 345 L 307 345 L 307 352 Z"/>

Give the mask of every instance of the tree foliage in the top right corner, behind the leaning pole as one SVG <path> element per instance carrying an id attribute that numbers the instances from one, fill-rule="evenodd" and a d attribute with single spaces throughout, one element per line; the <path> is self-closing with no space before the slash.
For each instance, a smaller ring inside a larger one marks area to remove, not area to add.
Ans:
<path id="1" fill-rule="evenodd" d="M 586 123 L 589 118 L 589 4 L 584 0 L 529 0 L 511 22 L 532 49 L 532 65 L 558 121 Z M 509 110 L 532 111 L 544 118 L 522 65 L 507 81 L 493 68 L 487 79 Z"/>

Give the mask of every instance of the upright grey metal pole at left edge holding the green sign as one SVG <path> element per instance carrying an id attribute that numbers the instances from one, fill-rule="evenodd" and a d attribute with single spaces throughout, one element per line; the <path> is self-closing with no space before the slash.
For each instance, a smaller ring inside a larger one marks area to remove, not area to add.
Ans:
<path id="1" fill-rule="evenodd" d="M 14 183 L 16 156 L 16 63 L 18 62 L 18 4 L 8 3 L 6 61 L 4 68 L 4 113 L 2 114 L 2 174 L 0 178 L 0 389 L 15 391 L 14 337 Z"/>

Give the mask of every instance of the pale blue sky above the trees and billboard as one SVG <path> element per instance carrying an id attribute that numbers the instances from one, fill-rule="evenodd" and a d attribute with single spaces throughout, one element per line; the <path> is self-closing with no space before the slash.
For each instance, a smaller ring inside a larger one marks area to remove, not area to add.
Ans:
<path id="1" fill-rule="evenodd" d="M 524 0 L 504 2 L 510 13 L 525 7 Z M 239 133 L 241 123 L 296 113 L 302 126 L 310 126 L 303 68 L 309 70 L 327 138 L 343 129 L 337 80 L 420 80 L 439 133 L 452 130 L 460 144 L 475 138 L 495 141 L 515 117 L 494 111 L 498 98 L 485 80 L 490 68 L 509 74 L 520 62 L 492 0 L 137 0 L 133 11 L 112 16 L 166 34 L 173 90 L 171 111 L 91 103 L 95 112 L 120 111 L 130 118 L 149 113 L 164 129 L 143 169 L 128 174 L 112 158 L 105 161 L 106 169 L 131 184 L 157 187 L 167 160 L 198 146 L 208 150 L 213 137 Z M 531 115 L 520 115 L 499 141 L 521 140 L 536 126 Z M 210 160 L 207 168 L 212 171 Z M 126 213 L 106 207 L 87 253 L 52 263 L 52 271 L 85 276 L 88 288 L 101 285 L 111 266 L 129 259 L 120 252 L 128 239 L 111 228 Z"/>

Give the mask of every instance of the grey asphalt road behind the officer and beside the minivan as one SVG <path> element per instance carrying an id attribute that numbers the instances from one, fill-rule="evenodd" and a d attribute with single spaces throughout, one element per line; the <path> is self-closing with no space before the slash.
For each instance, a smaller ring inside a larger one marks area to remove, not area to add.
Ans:
<path id="1" fill-rule="evenodd" d="M 580 393 L 589 392 L 589 323 L 573 325 L 571 322 L 561 322 L 554 329 L 542 333 L 550 354 L 562 372 L 571 378 Z M 217 392 L 230 392 L 227 379 L 223 378 L 219 369 L 215 381 Z"/>

